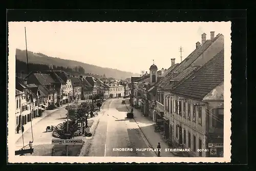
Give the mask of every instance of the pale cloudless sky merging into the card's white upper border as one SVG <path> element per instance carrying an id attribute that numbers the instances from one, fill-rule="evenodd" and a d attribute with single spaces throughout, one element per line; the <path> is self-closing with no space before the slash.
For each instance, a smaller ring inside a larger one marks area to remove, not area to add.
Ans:
<path id="1" fill-rule="evenodd" d="M 223 34 L 231 46 L 230 22 L 9 22 L 9 45 L 51 57 L 141 74 L 154 63 L 169 68 L 201 42 L 202 34 Z M 226 50 L 225 50 L 226 51 Z M 231 50 L 230 50 L 231 55 Z"/>

